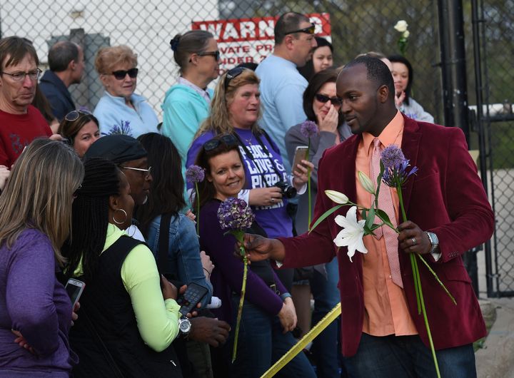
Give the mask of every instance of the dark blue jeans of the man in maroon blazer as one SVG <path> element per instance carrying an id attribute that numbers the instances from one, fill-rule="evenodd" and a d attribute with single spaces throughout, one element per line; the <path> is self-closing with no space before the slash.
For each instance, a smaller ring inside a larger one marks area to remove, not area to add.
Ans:
<path id="1" fill-rule="evenodd" d="M 435 351 L 441 377 L 476 378 L 473 344 Z M 362 334 L 357 354 L 345 357 L 356 377 L 436 377 L 430 348 L 418 335 L 376 337 Z"/>

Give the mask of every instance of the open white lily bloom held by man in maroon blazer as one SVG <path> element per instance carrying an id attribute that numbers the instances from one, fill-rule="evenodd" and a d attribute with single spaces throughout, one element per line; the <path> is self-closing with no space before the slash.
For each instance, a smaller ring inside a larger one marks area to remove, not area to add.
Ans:
<path id="1" fill-rule="evenodd" d="M 336 217 L 336 223 L 340 225 L 343 230 L 338 233 L 333 242 L 338 247 L 348 247 L 348 257 L 350 257 L 350 261 L 352 261 L 356 250 L 362 253 L 368 253 L 363 242 L 364 223 L 366 223 L 366 220 L 359 220 L 357 222 L 357 206 L 349 208 L 346 217 L 338 215 Z"/>

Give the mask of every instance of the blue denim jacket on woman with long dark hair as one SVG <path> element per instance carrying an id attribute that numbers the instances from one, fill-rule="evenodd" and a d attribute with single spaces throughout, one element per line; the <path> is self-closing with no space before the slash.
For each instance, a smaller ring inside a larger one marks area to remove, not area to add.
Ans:
<path id="1" fill-rule="evenodd" d="M 160 227 L 161 215 L 150 223 L 146 239 L 148 246 L 155 256 L 157 256 Z M 168 258 L 171 261 L 171 272 L 178 277 L 178 280 L 185 284 L 196 282 L 198 285 L 208 288 L 208 295 L 201 302 L 202 307 L 211 302 L 213 289 L 211 282 L 207 282 L 203 274 L 200 244 L 196 236 L 196 228 L 186 215 L 178 214 L 171 218 Z"/>

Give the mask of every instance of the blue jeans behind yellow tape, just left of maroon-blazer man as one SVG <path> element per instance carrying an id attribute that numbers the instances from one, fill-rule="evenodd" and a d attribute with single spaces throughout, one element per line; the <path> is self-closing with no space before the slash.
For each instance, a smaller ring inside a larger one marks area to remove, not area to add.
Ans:
<path id="1" fill-rule="evenodd" d="M 341 294 L 337 287 L 339 280 L 337 257 L 334 257 L 331 262 L 327 262 L 325 268 L 327 277 L 314 270 L 314 275 L 310 280 L 311 292 L 314 297 L 313 326 L 341 301 Z M 340 338 L 338 322 L 339 318 L 331 322 L 313 341 L 311 352 L 316 362 L 318 378 L 338 377 L 339 356 L 341 354 L 341 347 L 338 345 Z M 342 377 L 345 377 L 345 375 L 343 374 Z"/>

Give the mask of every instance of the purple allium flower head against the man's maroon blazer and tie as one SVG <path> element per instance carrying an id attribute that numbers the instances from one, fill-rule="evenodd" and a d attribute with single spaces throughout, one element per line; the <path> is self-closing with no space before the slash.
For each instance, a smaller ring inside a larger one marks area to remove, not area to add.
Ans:
<path id="1" fill-rule="evenodd" d="M 417 167 L 407 170 L 409 165 L 408 159 L 405 159 L 402 150 L 397 145 L 388 145 L 381 154 L 381 160 L 384 165 L 384 173 L 382 181 L 391 188 L 401 187 L 410 177 L 418 171 Z"/>

